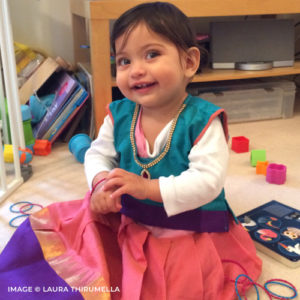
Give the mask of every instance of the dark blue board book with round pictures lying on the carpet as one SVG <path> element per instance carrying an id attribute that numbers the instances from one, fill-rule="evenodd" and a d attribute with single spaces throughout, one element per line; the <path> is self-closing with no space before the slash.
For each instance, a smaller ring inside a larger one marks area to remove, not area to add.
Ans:
<path id="1" fill-rule="evenodd" d="M 240 216 L 258 250 L 288 267 L 300 266 L 300 211 L 276 200 Z"/>

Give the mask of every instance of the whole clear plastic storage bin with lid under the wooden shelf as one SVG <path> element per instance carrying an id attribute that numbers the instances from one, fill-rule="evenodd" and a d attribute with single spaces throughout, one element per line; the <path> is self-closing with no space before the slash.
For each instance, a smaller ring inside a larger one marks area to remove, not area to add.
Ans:
<path id="1" fill-rule="evenodd" d="M 280 96 L 278 89 L 282 91 Z M 273 118 L 291 118 L 294 113 L 296 85 L 293 81 L 286 79 L 276 80 L 270 78 L 259 78 L 208 82 L 201 85 L 191 84 L 188 88 L 188 92 L 211 102 L 215 100 L 217 105 L 224 105 L 223 108 L 227 110 L 229 115 L 233 114 L 231 112 L 233 105 L 227 103 L 227 101 L 230 101 L 229 97 L 231 95 L 228 94 L 228 92 L 236 92 L 233 93 L 233 96 L 235 97 L 235 104 L 238 102 L 238 97 L 240 95 L 240 100 L 243 102 L 239 104 L 243 105 L 243 107 L 240 108 L 239 117 L 236 116 L 236 114 L 238 114 L 239 107 L 234 108 L 235 116 L 232 119 L 229 118 L 229 122 L 239 122 Z M 219 97 L 214 97 L 211 94 L 216 94 Z M 263 99 L 264 94 L 267 96 L 267 99 L 265 100 Z M 255 97 L 257 98 L 255 99 Z M 282 99 L 280 100 L 279 97 Z M 225 102 L 225 99 L 228 100 Z M 248 105 L 251 106 L 248 107 L 248 113 L 246 113 L 244 109 L 244 105 L 246 104 L 244 100 L 246 100 Z M 273 107 L 273 105 L 275 106 Z M 281 108 L 279 108 L 280 105 Z M 253 114 L 255 113 L 258 113 L 256 118 L 253 117 Z"/>

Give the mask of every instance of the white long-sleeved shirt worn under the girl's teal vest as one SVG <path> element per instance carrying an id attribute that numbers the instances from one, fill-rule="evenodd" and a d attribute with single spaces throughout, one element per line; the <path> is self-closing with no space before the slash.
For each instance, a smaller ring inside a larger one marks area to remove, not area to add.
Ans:
<path id="1" fill-rule="evenodd" d="M 159 155 L 164 148 L 171 123 L 172 121 L 157 136 L 152 153 L 146 141 L 150 158 Z M 159 177 L 160 193 L 167 215 L 192 210 L 214 200 L 224 186 L 228 157 L 223 127 L 220 119 L 215 118 L 202 138 L 192 147 L 188 156 L 189 168 L 179 176 Z M 109 116 L 105 117 L 98 137 L 86 152 L 84 166 L 90 188 L 99 172 L 118 167 L 113 123 Z"/>

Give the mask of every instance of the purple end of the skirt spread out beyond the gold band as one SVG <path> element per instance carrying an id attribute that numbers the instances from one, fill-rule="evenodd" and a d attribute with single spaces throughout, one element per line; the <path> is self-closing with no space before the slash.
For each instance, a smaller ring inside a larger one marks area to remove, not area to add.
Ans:
<path id="1" fill-rule="evenodd" d="M 19 226 L 0 255 L 0 300 L 2 299 L 83 299 L 44 260 L 29 219 Z"/>

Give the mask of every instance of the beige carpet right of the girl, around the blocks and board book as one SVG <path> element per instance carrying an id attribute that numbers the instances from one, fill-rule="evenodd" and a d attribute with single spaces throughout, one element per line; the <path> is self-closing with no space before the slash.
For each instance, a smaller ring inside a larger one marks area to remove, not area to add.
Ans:
<path id="1" fill-rule="evenodd" d="M 238 154 L 231 150 L 225 188 L 235 213 L 240 215 L 270 200 L 300 210 L 300 99 L 296 101 L 293 118 L 231 124 L 229 129 L 231 137 L 245 136 L 250 140 L 250 151 L 265 149 L 269 163 L 287 166 L 286 183 L 270 184 L 264 175 L 256 175 L 256 169 L 250 165 L 249 152 Z M 260 251 L 258 255 L 263 260 L 260 283 L 282 278 L 292 282 L 300 292 L 300 267 L 291 269 Z M 291 296 L 283 287 L 274 286 L 273 291 Z M 269 299 L 261 294 L 261 299 Z M 256 299 L 254 291 L 249 294 L 249 299 Z"/>

